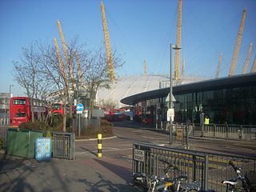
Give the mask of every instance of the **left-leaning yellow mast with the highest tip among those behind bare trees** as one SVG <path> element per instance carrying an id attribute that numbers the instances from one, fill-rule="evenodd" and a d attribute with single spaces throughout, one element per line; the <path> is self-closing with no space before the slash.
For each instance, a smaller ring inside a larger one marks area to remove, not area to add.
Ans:
<path id="1" fill-rule="evenodd" d="M 70 62 L 70 57 L 68 54 L 68 50 L 67 50 L 67 46 L 66 46 L 66 41 L 64 38 L 64 34 L 62 32 L 62 26 L 61 26 L 61 22 L 58 20 L 58 32 L 62 38 L 62 49 L 64 51 L 64 55 L 65 55 L 65 59 L 66 59 L 66 64 L 69 68 L 69 74 L 70 74 L 70 78 L 71 78 L 71 82 L 72 82 L 72 87 L 74 90 L 74 71 L 73 71 L 73 66 L 72 66 L 72 62 Z"/>

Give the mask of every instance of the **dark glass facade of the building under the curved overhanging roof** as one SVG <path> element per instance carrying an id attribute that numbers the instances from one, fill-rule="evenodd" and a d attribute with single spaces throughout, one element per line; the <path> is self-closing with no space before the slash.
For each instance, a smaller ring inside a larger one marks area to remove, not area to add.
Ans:
<path id="1" fill-rule="evenodd" d="M 165 95 L 160 93 L 162 90 L 154 90 L 142 97 L 134 96 L 135 121 L 166 122 L 169 90 L 164 90 Z M 174 97 L 174 122 L 199 123 L 200 114 L 204 113 L 210 123 L 256 125 L 256 74 L 174 86 Z"/>

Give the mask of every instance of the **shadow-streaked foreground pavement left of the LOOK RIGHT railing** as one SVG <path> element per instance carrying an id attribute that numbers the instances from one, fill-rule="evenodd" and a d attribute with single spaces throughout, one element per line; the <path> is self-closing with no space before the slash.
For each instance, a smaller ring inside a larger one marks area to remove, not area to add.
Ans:
<path id="1" fill-rule="evenodd" d="M 0 191 L 139 191 L 130 176 L 114 158 L 37 162 L 0 152 Z"/>

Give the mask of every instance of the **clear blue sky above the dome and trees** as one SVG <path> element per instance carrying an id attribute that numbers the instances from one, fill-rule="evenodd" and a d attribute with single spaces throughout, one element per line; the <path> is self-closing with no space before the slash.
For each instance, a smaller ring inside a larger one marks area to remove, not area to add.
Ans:
<path id="1" fill-rule="evenodd" d="M 22 89 L 11 74 L 22 47 L 34 40 L 53 43 L 62 22 L 66 41 L 77 37 L 88 49 L 104 41 L 100 0 L 0 0 L 0 92 L 21 95 Z M 125 62 L 117 76 L 143 74 L 146 59 L 148 74 L 168 74 L 170 42 L 175 43 L 178 0 L 105 0 L 110 44 Z M 235 74 L 242 74 L 250 42 L 256 46 L 256 1 L 183 0 L 182 59 L 185 75 L 214 78 L 222 52 L 219 77 L 226 77 L 238 36 L 242 10 L 246 23 Z M 255 56 L 250 58 L 250 70 Z"/>

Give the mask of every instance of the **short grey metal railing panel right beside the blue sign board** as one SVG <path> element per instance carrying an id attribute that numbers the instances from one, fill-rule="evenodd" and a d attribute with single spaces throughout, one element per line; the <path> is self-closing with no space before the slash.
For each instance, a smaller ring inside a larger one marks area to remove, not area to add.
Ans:
<path id="1" fill-rule="evenodd" d="M 74 133 L 54 132 L 53 158 L 74 159 Z"/>

